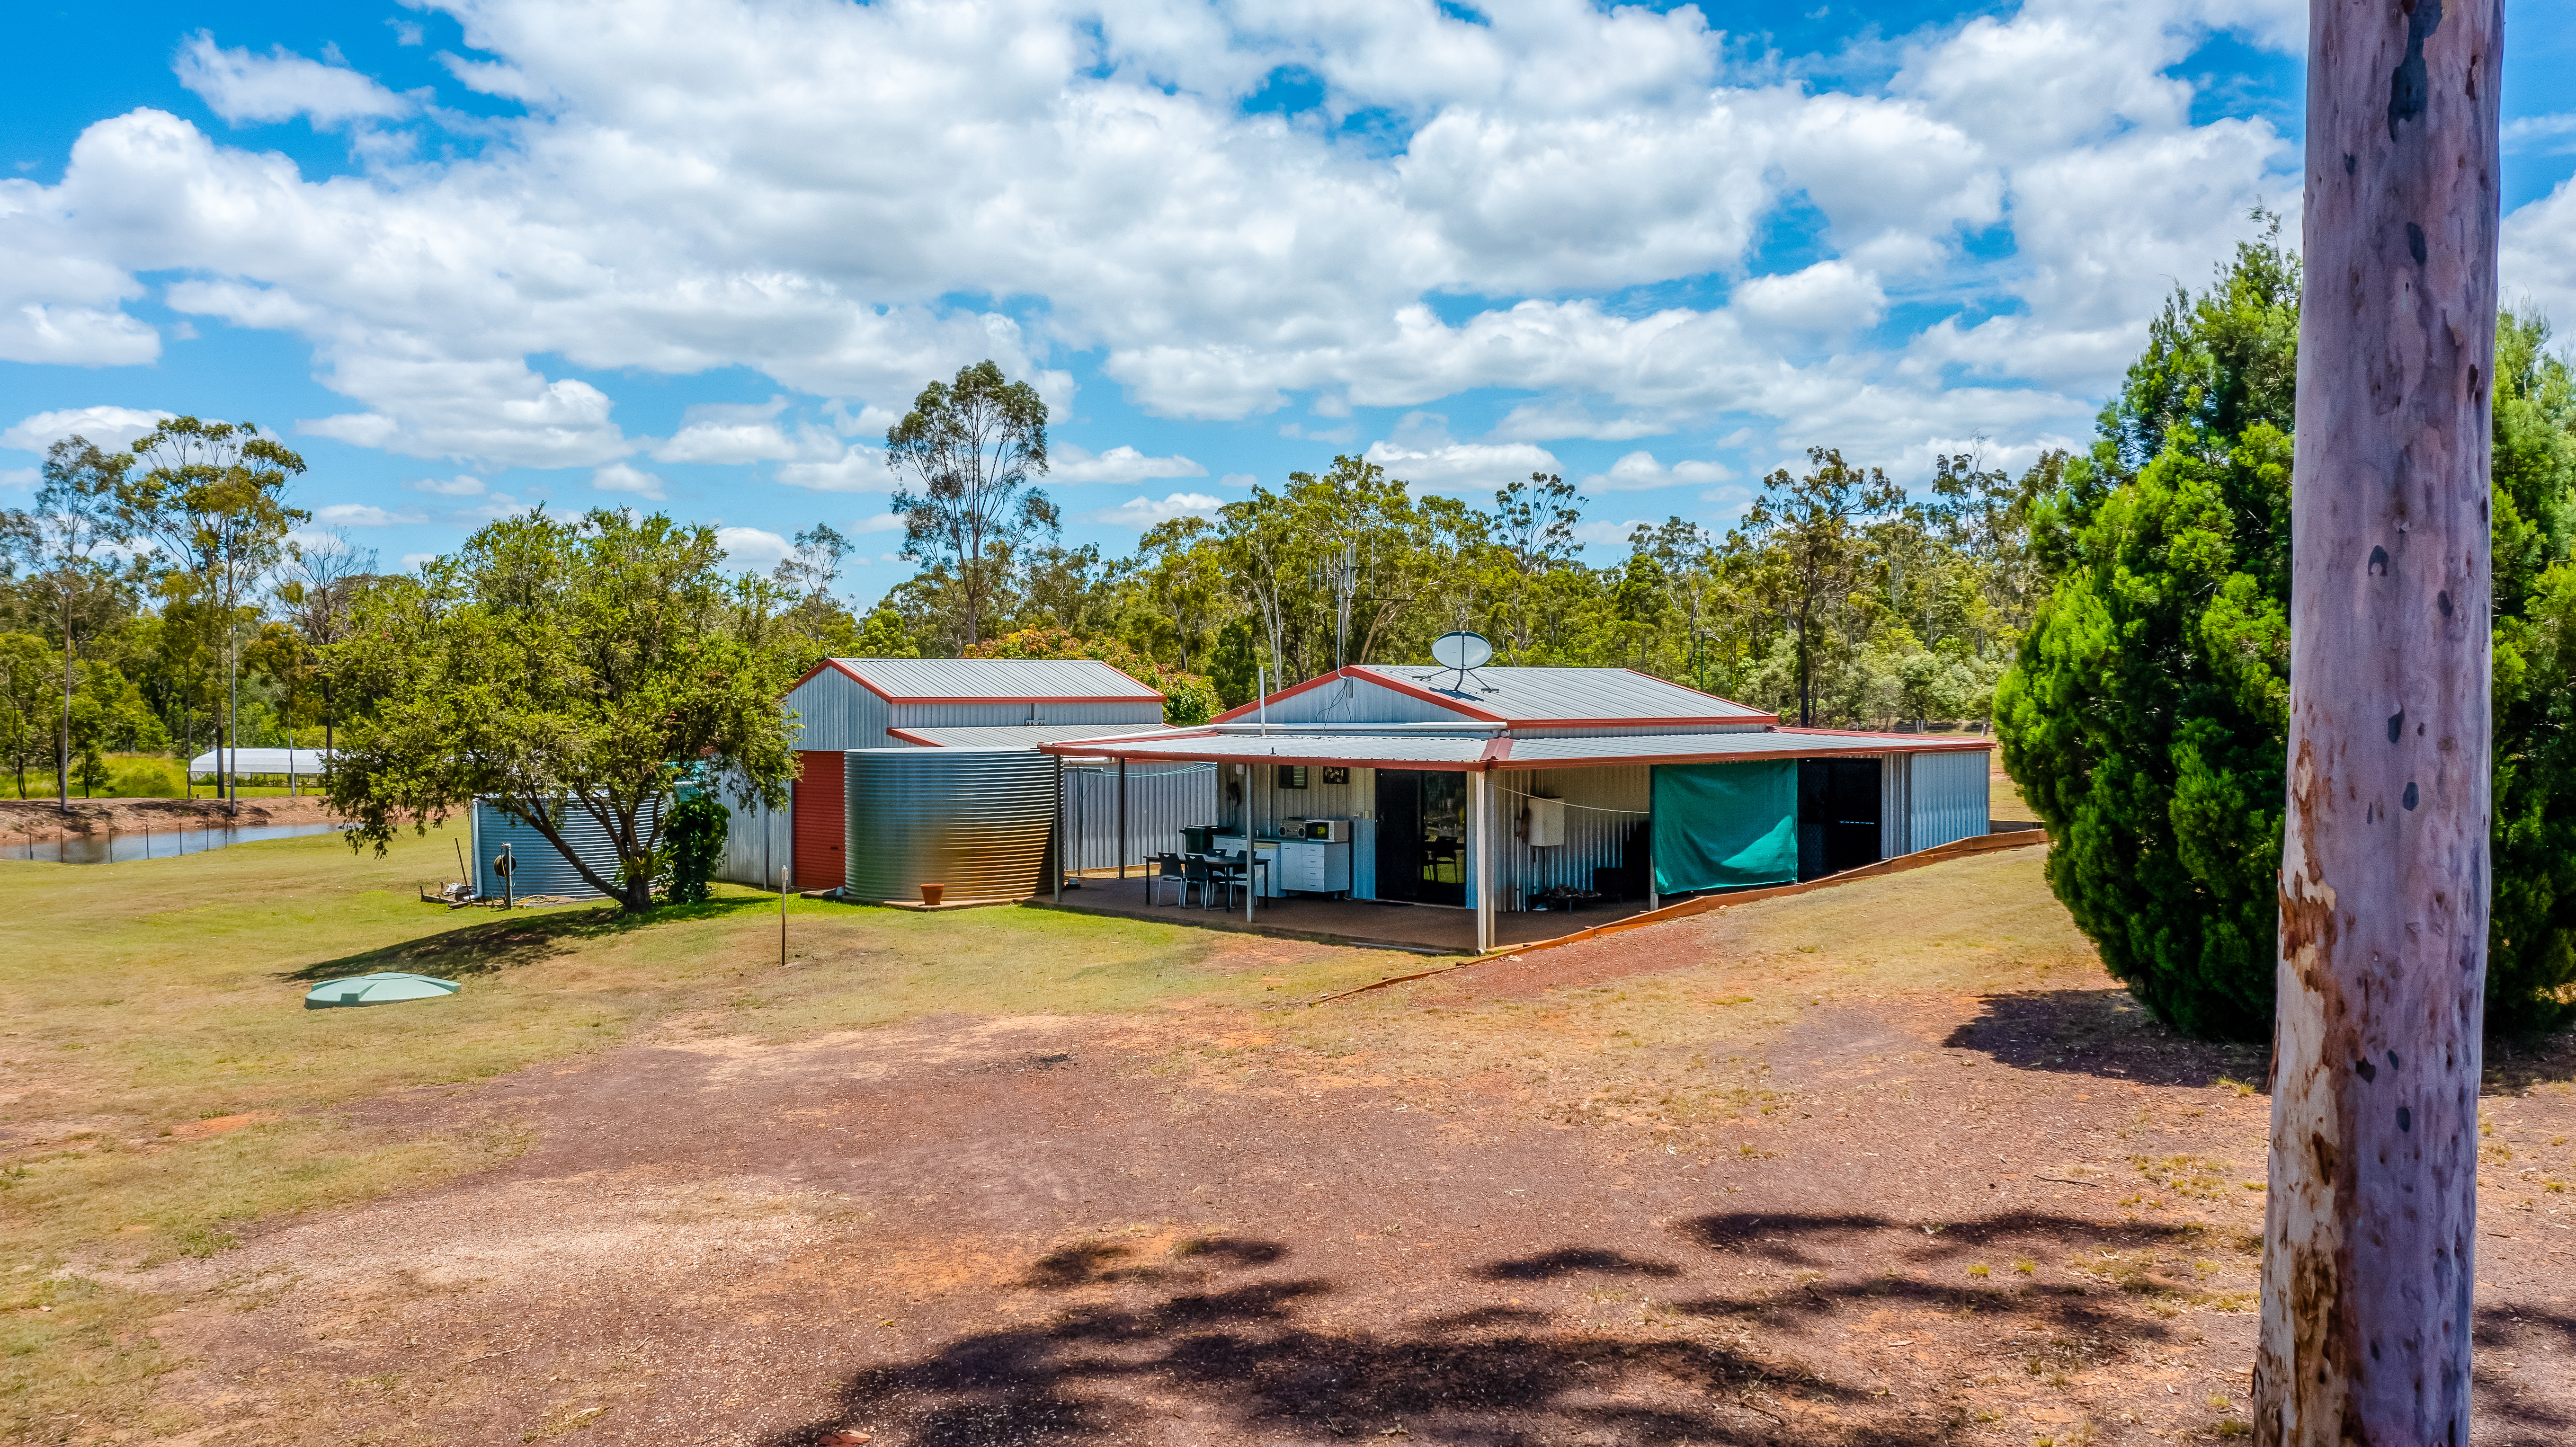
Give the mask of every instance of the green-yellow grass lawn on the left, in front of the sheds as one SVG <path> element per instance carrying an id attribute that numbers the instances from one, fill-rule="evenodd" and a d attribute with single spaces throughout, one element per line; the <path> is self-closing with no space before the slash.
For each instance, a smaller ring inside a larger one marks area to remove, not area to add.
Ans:
<path id="1" fill-rule="evenodd" d="M 451 857 L 433 832 L 381 860 L 330 837 L 124 865 L 0 860 L 0 1439 L 72 1403 L 131 1414 L 167 1365 L 142 1334 L 157 1303 L 80 1267 L 206 1256 L 255 1220 L 417 1190 L 523 1146 L 335 1107 L 605 1050 L 670 1017 L 786 1038 L 927 1012 L 1249 1004 L 1388 968 L 1386 955 L 1309 950 L 1262 984 L 1206 968 L 1229 935 L 804 899 L 788 901 L 781 968 L 778 896 L 726 886 L 647 919 L 420 904 L 412 881 L 453 873 Z M 817 955 L 835 966 L 809 968 Z M 466 989 L 301 1009 L 314 981 L 368 971 Z"/>

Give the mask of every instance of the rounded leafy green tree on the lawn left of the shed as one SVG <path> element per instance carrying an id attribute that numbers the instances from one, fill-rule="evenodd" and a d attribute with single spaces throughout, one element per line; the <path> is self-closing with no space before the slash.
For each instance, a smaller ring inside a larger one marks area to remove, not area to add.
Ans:
<path id="1" fill-rule="evenodd" d="M 778 602 L 773 584 L 726 574 L 711 528 L 608 510 L 507 518 L 371 587 L 330 651 L 379 700 L 327 775 L 350 845 L 381 852 L 402 824 L 425 832 L 482 796 L 623 909 L 652 906 L 690 770 L 786 806 L 778 695 L 799 649 L 775 628 Z M 564 845 L 572 811 L 605 832 L 616 870 Z"/>

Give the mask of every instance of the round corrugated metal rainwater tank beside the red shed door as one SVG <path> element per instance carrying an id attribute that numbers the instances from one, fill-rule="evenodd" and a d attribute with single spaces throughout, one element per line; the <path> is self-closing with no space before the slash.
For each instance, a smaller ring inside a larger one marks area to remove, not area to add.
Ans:
<path id="1" fill-rule="evenodd" d="M 845 896 L 1028 899 L 1046 888 L 1056 757 L 1030 749 L 850 749 Z"/>

